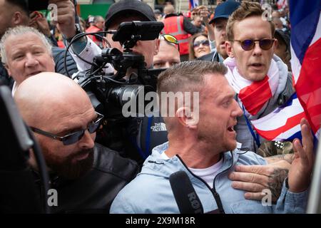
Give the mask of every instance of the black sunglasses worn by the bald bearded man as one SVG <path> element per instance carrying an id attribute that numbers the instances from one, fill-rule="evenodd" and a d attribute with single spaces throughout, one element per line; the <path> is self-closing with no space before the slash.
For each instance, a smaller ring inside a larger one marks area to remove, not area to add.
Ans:
<path id="1" fill-rule="evenodd" d="M 51 133 L 47 133 L 46 131 L 40 130 L 38 128 L 30 127 L 30 129 L 34 133 L 38 133 L 40 135 L 44 135 L 46 137 L 53 138 L 55 140 L 59 140 L 59 141 L 63 142 L 63 145 L 71 145 L 71 144 L 76 143 L 79 140 L 81 140 L 81 138 L 83 138 L 83 135 L 85 134 L 86 130 L 88 130 L 88 132 L 91 134 L 95 133 L 96 130 L 98 130 L 99 126 L 101 125 L 101 120 L 103 120 L 103 115 L 101 115 L 100 113 L 97 113 L 97 112 L 96 112 L 96 114 L 97 114 L 96 120 L 93 120 L 93 123 L 90 123 L 88 125 L 87 129 L 77 130 L 76 132 L 68 133 L 67 135 L 64 135 L 64 136 L 58 136 L 58 135 L 54 135 Z"/>

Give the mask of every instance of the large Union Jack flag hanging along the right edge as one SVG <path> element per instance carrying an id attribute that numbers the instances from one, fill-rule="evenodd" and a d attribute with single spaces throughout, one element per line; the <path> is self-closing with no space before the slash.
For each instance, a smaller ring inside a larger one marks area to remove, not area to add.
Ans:
<path id="1" fill-rule="evenodd" d="M 316 138 L 321 122 L 321 1 L 289 2 L 291 66 L 297 98 Z"/>

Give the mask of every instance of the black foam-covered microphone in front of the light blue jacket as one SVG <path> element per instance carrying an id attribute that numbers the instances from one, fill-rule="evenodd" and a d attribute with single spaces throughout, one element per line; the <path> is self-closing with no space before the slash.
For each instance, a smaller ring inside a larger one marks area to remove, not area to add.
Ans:
<path id="1" fill-rule="evenodd" d="M 174 172 L 170 175 L 170 187 L 181 214 L 203 214 L 200 198 L 184 171 Z"/>

